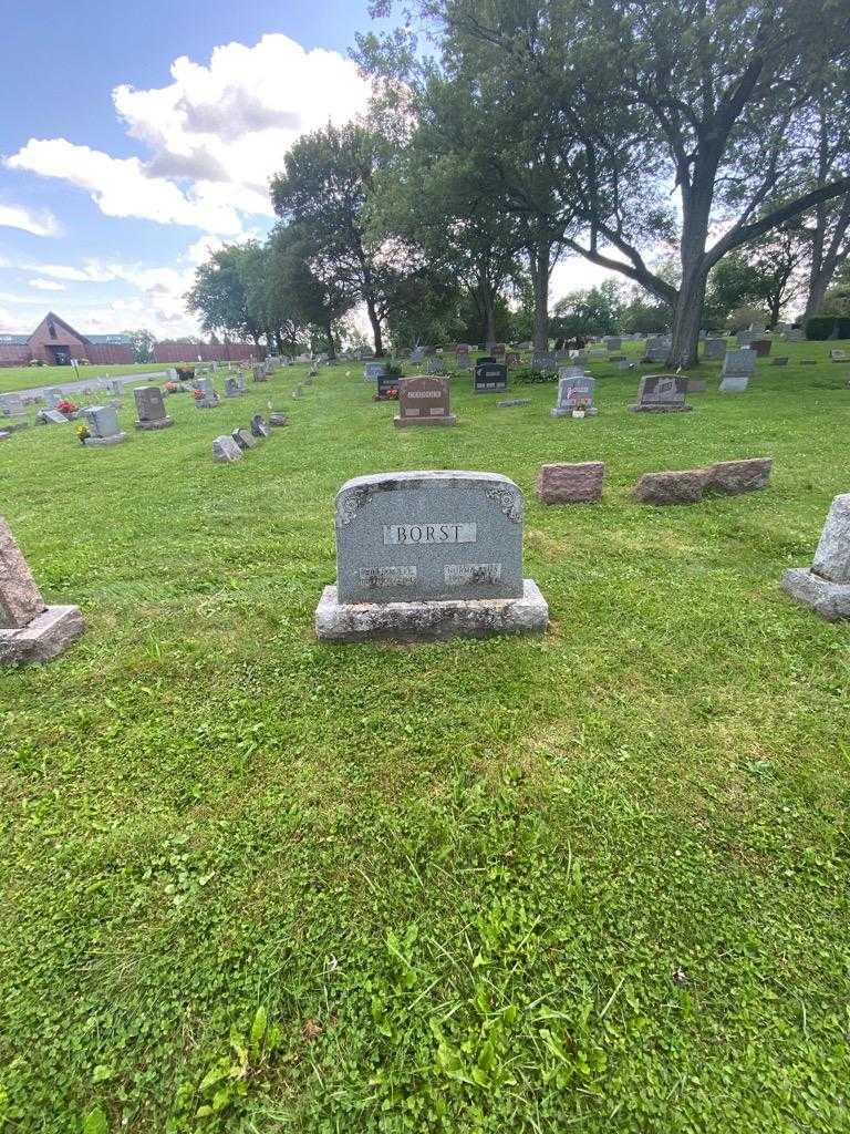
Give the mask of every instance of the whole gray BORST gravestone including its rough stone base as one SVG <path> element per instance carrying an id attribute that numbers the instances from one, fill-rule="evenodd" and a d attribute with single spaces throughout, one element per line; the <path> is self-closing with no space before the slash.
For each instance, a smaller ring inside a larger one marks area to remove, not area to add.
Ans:
<path id="1" fill-rule="evenodd" d="M 337 496 L 337 584 L 316 609 L 325 641 L 541 632 L 522 577 L 522 496 L 498 473 L 385 473 Z"/>

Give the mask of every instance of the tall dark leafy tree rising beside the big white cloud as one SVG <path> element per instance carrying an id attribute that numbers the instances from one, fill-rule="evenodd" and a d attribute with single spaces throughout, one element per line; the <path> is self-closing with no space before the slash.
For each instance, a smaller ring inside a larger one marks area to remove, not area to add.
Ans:
<path id="1" fill-rule="evenodd" d="M 369 227 L 379 174 L 389 146 L 374 130 L 348 125 L 299 138 L 272 178 L 274 211 L 309 236 L 309 268 L 325 287 L 366 305 L 375 344 L 398 291 L 417 263 L 376 239 Z"/>

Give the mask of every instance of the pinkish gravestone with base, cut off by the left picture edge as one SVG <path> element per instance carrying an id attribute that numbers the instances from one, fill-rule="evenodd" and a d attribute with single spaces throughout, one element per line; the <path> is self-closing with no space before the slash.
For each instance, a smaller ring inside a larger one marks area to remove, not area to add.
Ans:
<path id="1" fill-rule="evenodd" d="M 50 661 L 83 634 L 78 607 L 48 607 L 0 516 L 0 665 Z"/>

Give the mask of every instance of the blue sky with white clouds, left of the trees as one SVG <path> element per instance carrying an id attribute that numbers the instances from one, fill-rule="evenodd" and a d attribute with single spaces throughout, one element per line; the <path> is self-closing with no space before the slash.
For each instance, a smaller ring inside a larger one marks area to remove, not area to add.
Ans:
<path id="1" fill-rule="evenodd" d="M 218 243 L 262 235 L 292 141 L 365 105 L 366 2 L 44 0 L 0 40 L 0 330 L 195 329 Z M 178 60 L 182 60 L 178 62 Z"/>

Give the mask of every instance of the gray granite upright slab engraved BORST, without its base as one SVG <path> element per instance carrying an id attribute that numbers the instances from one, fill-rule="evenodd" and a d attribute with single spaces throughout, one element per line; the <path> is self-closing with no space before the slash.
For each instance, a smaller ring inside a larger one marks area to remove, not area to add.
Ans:
<path id="1" fill-rule="evenodd" d="M 340 602 L 522 594 L 522 496 L 496 473 L 358 476 L 337 497 Z"/>

